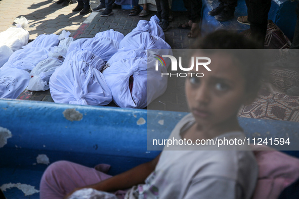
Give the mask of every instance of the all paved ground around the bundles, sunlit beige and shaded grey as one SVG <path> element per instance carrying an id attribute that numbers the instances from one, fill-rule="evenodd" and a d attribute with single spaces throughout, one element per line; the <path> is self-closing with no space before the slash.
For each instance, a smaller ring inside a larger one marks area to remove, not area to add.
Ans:
<path id="1" fill-rule="evenodd" d="M 15 25 L 16 17 L 24 16 L 28 19 L 29 39 L 35 39 L 40 34 L 59 34 L 63 29 L 70 31 L 75 39 L 94 37 L 96 33 L 114 29 L 126 35 L 131 32 L 140 19 L 149 20 L 151 14 L 145 18 L 129 16 L 129 10 L 114 9 L 114 14 L 101 17 L 100 13 L 91 13 L 80 16 L 71 10 L 76 2 L 67 7 L 57 5 L 53 0 L 0 0 L 0 32 Z M 99 4 L 99 0 L 91 1 L 92 8 Z M 188 39 L 188 30 L 178 29 L 180 23 L 187 19 L 186 13 L 173 13 L 174 20 L 171 28 L 165 32 L 165 40 L 172 48 L 188 48 L 194 39 Z M 157 98 L 150 106 L 151 109 L 186 111 L 187 105 L 183 93 L 183 79 L 169 78 L 168 89 L 161 97 Z M 32 92 L 25 90 L 18 97 L 20 100 L 53 102 L 50 91 Z M 111 104 L 113 106 L 113 104 Z"/>

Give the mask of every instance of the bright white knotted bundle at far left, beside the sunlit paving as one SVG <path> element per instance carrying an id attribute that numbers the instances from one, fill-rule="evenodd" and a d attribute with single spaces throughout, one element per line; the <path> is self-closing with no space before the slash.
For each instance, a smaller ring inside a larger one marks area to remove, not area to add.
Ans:
<path id="1" fill-rule="evenodd" d="M 29 40 L 29 32 L 25 30 L 28 20 L 25 17 L 15 19 L 17 27 L 10 27 L 0 33 L 0 44 L 9 46 L 12 51 L 21 49 Z"/>

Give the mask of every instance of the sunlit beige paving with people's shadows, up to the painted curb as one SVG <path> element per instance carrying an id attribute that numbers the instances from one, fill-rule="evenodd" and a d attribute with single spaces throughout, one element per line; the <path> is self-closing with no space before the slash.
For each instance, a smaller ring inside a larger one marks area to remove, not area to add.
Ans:
<path id="1" fill-rule="evenodd" d="M 99 0 L 91 1 L 92 6 L 97 6 Z M 0 1 L 0 32 L 15 25 L 17 17 L 24 16 L 28 21 L 26 30 L 29 39 L 35 39 L 40 34 L 59 34 L 63 29 L 72 34 L 80 27 L 89 15 L 80 16 L 72 12 L 77 5 L 74 3 L 63 7 L 53 0 L 2 0 Z"/>

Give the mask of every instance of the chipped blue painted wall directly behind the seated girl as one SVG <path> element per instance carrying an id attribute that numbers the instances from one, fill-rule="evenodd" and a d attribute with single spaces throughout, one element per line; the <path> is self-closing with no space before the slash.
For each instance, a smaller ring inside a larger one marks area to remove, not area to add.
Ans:
<path id="1" fill-rule="evenodd" d="M 66 109 L 75 109 L 82 119 L 67 120 Z M 109 174 L 114 175 L 156 157 L 159 151 L 147 151 L 147 131 L 167 138 L 187 114 L 17 100 L 0 100 L 0 110 L 0 126 L 13 134 L 0 148 L 0 185 L 20 182 L 36 189 L 47 167 L 35 164 L 39 154 L 46 154 L 50 163 L 69 160 L 89 167 L 107 163 L 112 165 Z M 164 125 L 158 124 L 162 119 Z M 246 118 L 239 122 L 248 137 L 290 137 L 298 150 L 299 123 Z M 288 153 L 299 157 L 297 151 Z M 16 190 L 5 194 L 8 198 L 38 198 L 37 193 L 25 197 Z"/>

